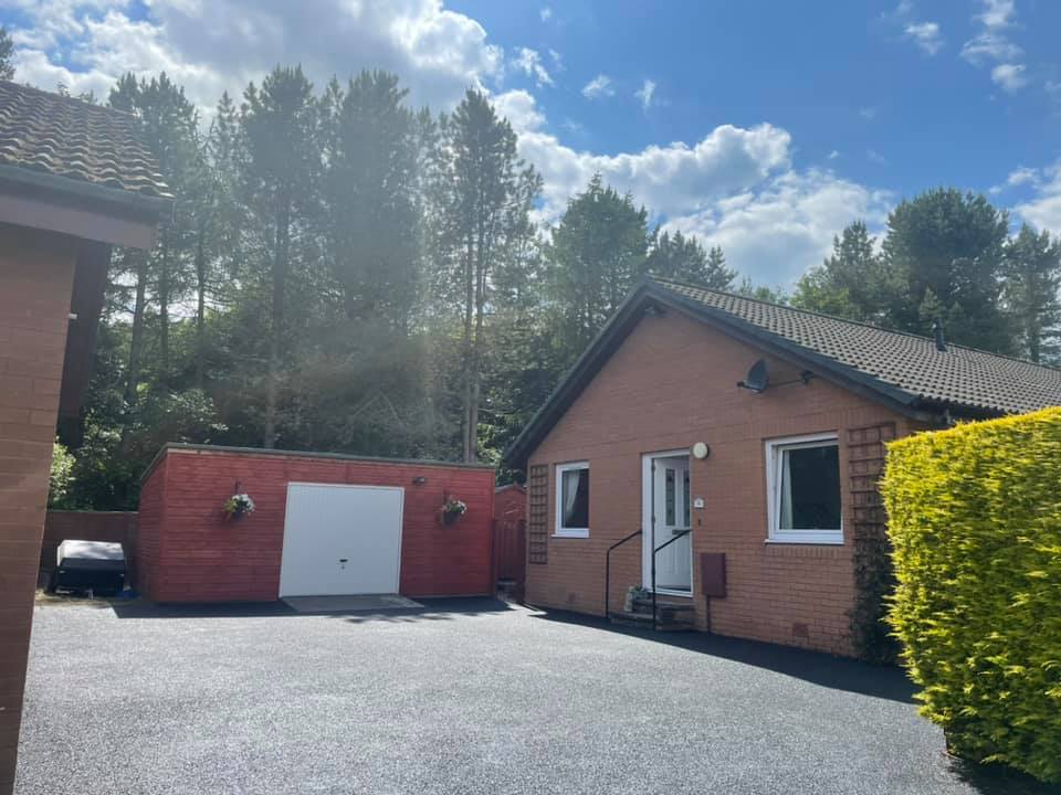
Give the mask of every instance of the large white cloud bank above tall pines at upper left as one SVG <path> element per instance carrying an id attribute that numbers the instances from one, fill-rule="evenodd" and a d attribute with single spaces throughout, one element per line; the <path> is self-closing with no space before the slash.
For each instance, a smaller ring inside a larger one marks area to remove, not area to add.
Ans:
<path id="1" fill-rule="evenodd" d="M 302 63 L 317 82 L 390 70 L 413 104 L 435 107 L 452 106 L 470 85 L 485 87 L 504 63 L 483 26 L 441 0 L 179 0 L 148 3 L 146 20 L 132 19 L 126 0 L 17 2 L 27 19 L 12 26 L 18 80 L 106 96 L 125 72 L 165 70 L 206 110 L 277 63 Z"/>

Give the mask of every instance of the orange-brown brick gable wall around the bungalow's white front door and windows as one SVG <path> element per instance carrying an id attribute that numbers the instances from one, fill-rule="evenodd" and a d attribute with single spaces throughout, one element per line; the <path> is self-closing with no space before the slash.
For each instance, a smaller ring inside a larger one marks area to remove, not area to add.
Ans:
<path id="1" fill-rule="evenodd" d="M 645 318 L 557 423 L 530 464 L 548 470 L 549 539 L 546 564 L 527 566 L 527 601 L 603 613 L 605 552 L 641 527 L 641 455 L 706 442 L 711 456 L 692 460 L 693 591 L 696 622 L 723 635 L 851 654 L 847 612 L 854 597 L 852 539 L 843 545 L 766 543 L 765 442 L 836 432 L 844 527 L 849 490 L 848 428 L 905 421 L 822 379 L 753 394 L 736 388 L 763 352 L 676 311 Z M 795 379 L 791 367 L 767 357 L 771 380 Z M 589 460 L 590 537 L 551 538 L 553 465 Z M 700 596 L 698 555 L 726 553 L 725 598 Z M 612 556 L 611 604 L 621 605 L 641 582 L 641 541 Z M 669 597 L 673 598 L 673 597 Z M 708 616 L 710 612 L 710 616 Z"/>

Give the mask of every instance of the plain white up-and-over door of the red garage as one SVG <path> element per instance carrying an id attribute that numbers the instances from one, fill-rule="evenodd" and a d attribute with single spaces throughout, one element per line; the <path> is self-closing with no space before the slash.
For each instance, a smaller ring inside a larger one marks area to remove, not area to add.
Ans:
<path id="1" fill-rule="evenodd" d="M 280 595 L 398 593 L 403 494 L 288 484 Z"/>

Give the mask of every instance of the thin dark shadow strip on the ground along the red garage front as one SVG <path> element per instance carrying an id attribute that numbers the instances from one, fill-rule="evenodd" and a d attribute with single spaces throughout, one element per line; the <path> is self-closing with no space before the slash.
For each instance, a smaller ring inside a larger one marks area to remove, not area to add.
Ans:
<path id="1" fill-rule="evenodd" d="M 489 596 L 453 596 L 418 598 L 419 607 L 393 607 L 374 611 L 296 611 L 284 602 L 229 602 L 154 604 L 146 600 L 113 600 L 109 607 L 118 618 L 265 618 L 291 616 L 329 616 L 353 624 L 374 621 L 412 622 L 449 621 L 456 616 L 504 613 L 512 607 Z"/>

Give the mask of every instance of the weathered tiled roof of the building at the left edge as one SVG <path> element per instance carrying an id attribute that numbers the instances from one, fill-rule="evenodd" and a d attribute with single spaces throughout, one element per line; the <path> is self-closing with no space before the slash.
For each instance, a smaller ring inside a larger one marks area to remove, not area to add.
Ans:
<path id="1" fill-rule="evenodd" d="M 129 114 L 0 81 L 0 165 L 171 198 Z"/>

